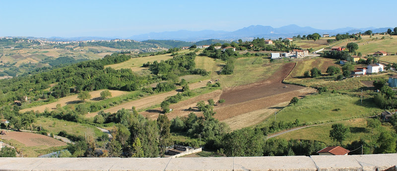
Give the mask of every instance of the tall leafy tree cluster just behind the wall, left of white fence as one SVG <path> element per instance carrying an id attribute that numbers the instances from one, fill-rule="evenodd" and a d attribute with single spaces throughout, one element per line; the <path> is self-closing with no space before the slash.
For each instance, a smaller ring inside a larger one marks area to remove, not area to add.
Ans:
<path id="1" fill-rule="evenodd" d="M 104 157 L 159 157 L 170 146 L 170 125 L 167 115 L 160 114 L 157 120 L 148 120 L 132 111 L 121 109 L 116 113 L 100 112 L 95 120 L 103 118 L 105 123 L 114 122 L 116 126 L 111 130 L 113 138 L 107 135 L 101 141 L 107 141 Z M 79 139 L 74 145 L 69 145 L 68 151 L 73 157 L 96 157 L 94 154 L 96 140 L 92 137 Z"/>

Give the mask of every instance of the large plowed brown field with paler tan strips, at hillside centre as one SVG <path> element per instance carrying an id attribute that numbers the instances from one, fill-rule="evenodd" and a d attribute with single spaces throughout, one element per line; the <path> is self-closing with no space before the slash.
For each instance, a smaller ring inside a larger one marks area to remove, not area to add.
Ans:
<path id="1" fill-rule="evenodd" d="M 197 102 L 210 98 L 214 101 L 225 99 L 225 103 L 215 106 L 215 118 L 228 123 L 232 130 L 258 124 L 275 111 L 288 105 L 292 97 L 302 98 L 316 92 L 313 88 L 281 83 L 294 67 L 295 63 L 287 63 L 261 82 L 225 88 L 223 91 L 216 90 L 172 104 L 170 108 L 173 111 L 167 115 L 170 119 L 176 116 L 187 116 L 192 112 L 188 110 L 189 107 L 192 107 L 200 116 L 202 113 L 195 108 Z M 141 112 L 141 114 L 156 119 L 160 112 L 161 109 L 156 108 Z"/>

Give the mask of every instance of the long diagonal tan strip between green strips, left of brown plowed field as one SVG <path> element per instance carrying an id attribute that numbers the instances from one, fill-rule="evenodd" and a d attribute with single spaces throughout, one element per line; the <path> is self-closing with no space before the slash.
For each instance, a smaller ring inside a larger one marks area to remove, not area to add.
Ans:
<path id="1" fill-rule="evenodd" d="M 201 83 L 193 83 L 193 84 L 189 85 L 189 88 L 190 89 L 196 89 L 196 88 L 199 88 L 199 87 L 203 87 L 203 86 L 206 86 L 207 82 L 208 82 L 208 80 L 207 81 L 202 81 Z M 150 106 L 153 106 L 153 105 L 156 105 L 156 104 L 160 104 L 167 97 L 173 96 L 173 95 L 177 94 L 178 92 L 182 92 L 182 87 L 180 87 L 180 88 L 178 88 L 176 90 L 173 90 L 173 91 L 164 92 L 164 93 L 156 94 L 156 95 L 150 95 L 150 96 L 143 97 L 143 98 L 140 98 L 140 99 L 137 99 L 137 100 L 129 101 L 129 102 L 126 102 L 126 103 L 123 103 L 123 104 L 120 104 L 120 105 L 105 109 L 104 112 L 115 113 L 115 112 L 117 112 L 118 110 L 120 110 L 122 108 L 131 109 L 132 106 L 135 106 L 135 108 L 137 110 L 143 109 L 143 108 L 147 108 L 147 107 L 150 107 Z M 95 112 L 95 113 L 87 114 L 86 116 L 87 117 L 94 117 L 97 114 L 98 114 L 98 112 Z"/>

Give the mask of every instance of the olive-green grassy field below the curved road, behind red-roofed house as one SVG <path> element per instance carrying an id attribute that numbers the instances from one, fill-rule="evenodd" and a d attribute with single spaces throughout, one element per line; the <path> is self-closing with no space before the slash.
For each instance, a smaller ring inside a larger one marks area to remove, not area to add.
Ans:
<path id="1" fill-rule="evenodd" d="M 374 133 L 371 134 L 371 129 L 367 128 L 366 119 L 367 118 L 349 119 L 333 123 L 326 123 L 323 125 L 316 125 L 293 132 L 288 132 L 277 136 L 277 138 L 283 138 L 286 140 L 316 140 L 322 141 L 327 145 L 334 145 L 335 142 L 330 138 L 330 130 L 332 129 L 331 126 L 334 123 L 341 123 L 350 129 L 346 141 L 343 142 L 344 144 L 360 140 L 364 140 L 366 143 L 368 143 L 369 141 L 376 141 L 382 131 L 392 131 L 393 129 L 390 125 L 382 125 L 378 128 L 375 128 Z"/>

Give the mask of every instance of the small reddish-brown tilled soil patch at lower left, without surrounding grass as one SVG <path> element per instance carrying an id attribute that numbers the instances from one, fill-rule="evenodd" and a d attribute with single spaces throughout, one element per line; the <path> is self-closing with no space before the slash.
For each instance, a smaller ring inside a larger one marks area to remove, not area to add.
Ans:
<path id="1" fill-rule="evenodd" d="M 30 146 L 49 146 L 49 147 L 56 147 L 56 146 L 65 146 L 66 143 L 56 140 L 54 138 L 41 135 L 41 134 L 34 134 L 29 132 L 7 132 L 6 135 L 1 135 L 1 138 L 6 140 L 16 140 L 27 147 Z"/>

